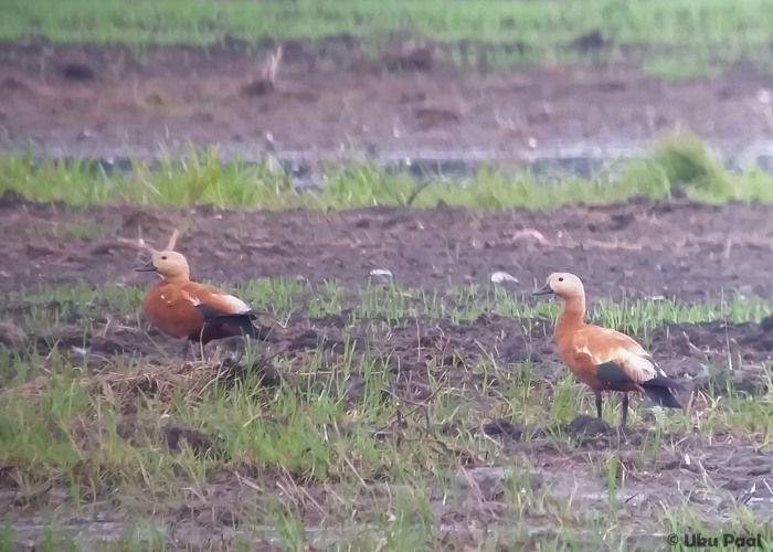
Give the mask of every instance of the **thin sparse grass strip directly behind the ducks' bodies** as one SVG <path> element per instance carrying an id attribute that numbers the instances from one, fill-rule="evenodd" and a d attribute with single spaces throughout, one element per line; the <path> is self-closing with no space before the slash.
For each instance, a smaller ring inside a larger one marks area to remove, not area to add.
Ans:
<path id="1" fill-rule="evenodd" d="M 210 284 L 218 284 L 209 282 Z M 233 286 L 234 293 L 257 309 L 266 309 L 278 319 L 294 312 L 320 318 L 326 315 L 348 314 L 348 322 L 383 318 L 389 323 L 410 318 L 447 318 L 458 323 L 470 321 L 484 312 L 512 318 L 555 318 L 560 311 L 558 301 L 525 301 L 495 285 L 455 286 L 445 294 L 419 288 L 404 288 L 395 283 L 386 286 L 369 286 L 348 290 L 337 280 L 309 289 L 294 278 L 256 279 Z M 139 306 L 145 288 L 120 285 L 92 286 L 89 284 L 21 289 L 0 299 L 0 311 L 21 309 L 23 329 L 34 333 L 49 323 L 64 323 L 75 317 L 94 331 L 93 320 L 99 312 L 117 312 L 131 317 L 139 325 Z M 615 302 L 597 301 L 589 312 L 595 323 L 644 336 L 666 321 L 696 322 L 709 320 L 760 321 L 773 311 L 773 300 L 746 298 L 734 294 L 723 301 L 690 304 L 678 299 L 639 299 Z"/>

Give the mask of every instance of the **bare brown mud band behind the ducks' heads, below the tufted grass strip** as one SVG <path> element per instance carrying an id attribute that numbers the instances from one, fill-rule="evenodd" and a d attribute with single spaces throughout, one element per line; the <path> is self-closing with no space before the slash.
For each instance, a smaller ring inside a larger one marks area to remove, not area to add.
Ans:
<path id="1" fill-rule="evenodd" d="M 571 270 L 591 296 L 719 299 L 739 290 L 773 296 L 760 259 L 773 247 L 770 206 L 633 199 L 610 206 L 499 213 L 441 206 L 340 213 L 77 209 L 0 197 L 4 290 L 84 279 L 147 283 L 137 252 L 118 236 L 162 243 L 180 229 L 193 277 L 336 278 L 363 285 L 388 269 L 405 286 L 443 289 L 486 284 L 504 270 L 529 293 L 554 270 Z"/>

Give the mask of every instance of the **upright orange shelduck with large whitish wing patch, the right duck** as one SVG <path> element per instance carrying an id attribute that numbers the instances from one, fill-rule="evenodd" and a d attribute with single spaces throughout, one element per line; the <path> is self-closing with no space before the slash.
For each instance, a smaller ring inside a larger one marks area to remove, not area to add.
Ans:
<path id="1" fill-rule="evenodd" d="M 681 385 L 670 380 L 640 344 L 620 331 L 585 323 L 585 289 L 579 277 L 551 274 L 548 283 L 532 295 L 563 299 L 563 310 L 555 322 L 559 357 L 595 393 L 599 417 L 603 391 L 623 393 L 621 426 L 627 421 L 632 391 L 646 394 L 663 407 L 681 408 L 674 393 Z"/>

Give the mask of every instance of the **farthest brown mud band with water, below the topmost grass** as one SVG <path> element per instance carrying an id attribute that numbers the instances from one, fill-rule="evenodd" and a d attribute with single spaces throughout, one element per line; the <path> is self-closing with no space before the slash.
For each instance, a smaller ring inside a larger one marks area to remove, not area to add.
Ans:
<path id="1" fill-rule="evenodd" d="M 773 76 L 751 64 L 668 83 L 637 68 L 645 51 L 636 47 L 608 63 L 589 42 L 574 68 L 495 71 L 491 47 L 469 45 L 478 54 L 457 68 L 444 45 L 398 41 L 374 57 L 339 36 L 284 43 L 276 81 L 266 84 L 264 61 L 276 45 L 258 46 L 248 55 L 233 41 L 141 54 L 0 44 L 0 138 L 82 155 L 149 153 L 190 139 L 326 156 L 472 148 L 518 157 L 534 145 L 638 144 L 678 128 L 735 148 L 771 134 L 756 97 Z"/>

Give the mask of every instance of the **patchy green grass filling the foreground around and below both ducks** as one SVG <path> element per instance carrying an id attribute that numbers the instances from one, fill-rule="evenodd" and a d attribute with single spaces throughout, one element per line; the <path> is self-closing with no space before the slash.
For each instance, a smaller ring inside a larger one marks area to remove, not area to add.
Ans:
<path id="1" fill-rule="evenodd" d="M 432 358 L 424 374 L 415 374 L 430 393 L 423 399 L 394 388 L 398 375 L 389 361 L 394 354 L 389 336 L 401 326 L 421 332 L 440 318 L 464 325 L 495 312 L 528 327 L 532 319 L 555 316 L 555 301 L 525 300 L 494 286 L 438 296 L 396 285 L 346 289 L 337 282 L 306 289 L 290 279 L 247 282 L 237 291 L 278 318 L 295 312 L 307 320 L 304 326 L 321 323 L 306 317 L 349 312 L 345 333 L 366 330 L 377 354 L 351 347 L 336 354 L 279 354 L 273 361 L 282 374 L 275 384 L 247 373 L 232 385 L 216 376 L 219 357 L 180 367 L 160 353 L 152 360 L 84 359 L 59 350 L 41 355 L 32 342 L 12 344 L 0 355 L 0 466 L 7 485 L 17 489 L 15 506 L 0 507 L 0 513 L 11 520 L 42 516 L 35 523 L 47 529 L 36 550 L 84 550 L 64 526 L 106 512 L 126 526 L 121 539 L 95 550 L 162 550 L 162 529 L 191 546 L 216 550 L 204 539 L 212 527 L 237 531 L 236 543 L 245 546 L 274 538 L 279 549 L 293 551 L 304 542 L 340 551 L 447 550 L 449 543 L 470 542 L 491 551 L 536 543 L 551 551 L 652 550 L 647 539 L 658 533 L 665 539 L 670 528 L 716 533 L 719 520 L 701 507 L 706 497 L 723 505 L 722 531 L 761 532 L 770 544 L 764 514 L 721 489 L 724 460 L 718 459 L 732 454 L 730 469 L 740 459 L 772 454 L 767 395 L 709 393 L 688 413 L 649 418 L 643 418 L 646 405 L 635 402 L 631 422 L 642 431 L 640 444 L 583 448 L 557 424 L 593 412 L 592 397 L 565 370 L 547 372 L 553 361 L 508 364 L 484 348 L 447 374 L 440 357 Z M 24 289 L 0 299 L 0 315 L 21 335 L 49 342 L 63 328 L 77 328 L 149 343 L 141 294 L 113 284 Z M 646 343 L 664 321 L 759 320 L 771 310 L 770 300 L 732 296 L 720 304 L 600 301 L 590 316 Z M 158 343 L 159 350 L 168 346 Z M 247 350 L 246 361 L 253 355 Z M 363 386 L 348 395 L 345 379 L 352 372 Z M 474 373 L 480 376 L 477 385 L 451 383 Z M 615 423 L 614 401 L 606 401 L 604 415 Z M 548 435 L 533 442 L 542 452 L 534 456 L 530 446 L 511 447 L 469 431 L 493 417 L 544 428 Z M 126 421 L 137 424 L 128 438 L 117 428 Z M 163 426 L 172 421 L 210 436 L 212 449 L 200 454 L 183 439 L 179 450 L 170 450 Z M 448 422 L 463 426 L 458 435 L 438 432 Z M 374 437 L 377 429 L 385 437 Z M 691 435 L 707 440 L 691 447 Z M 685 454 L 693 463 L 719 463 L 711 468 L 719 473 L 690 478 L 689 471 L 665 467 Z M 493 496 L 466 479 L 470 473 L 459 471 L 474 465 L 505 469 Z M 663 477 L 676 480 L 653 495 L 660 506 L 626 511 L 649 486 L 664 485 Z M 696 502 L 691 493 L 703 499 Z M 495 516 L 475 506 L 485 503 L 504 510 Z M 460 532 L 441 530 L 443 512 L 467 520 Z M 494 533 L 484 538 L 464 529 L 475 519 L 486 520 Z M 320 527 L 338 528 L 338 538 L 325 543 Z M 304 535 L 304 529 L 310 532 Z M 13 524 L 0 530 L 0 550 L 12 550 L 18 537 Z"/>

